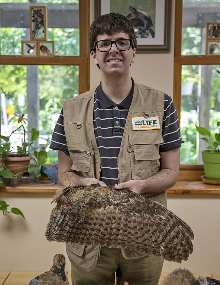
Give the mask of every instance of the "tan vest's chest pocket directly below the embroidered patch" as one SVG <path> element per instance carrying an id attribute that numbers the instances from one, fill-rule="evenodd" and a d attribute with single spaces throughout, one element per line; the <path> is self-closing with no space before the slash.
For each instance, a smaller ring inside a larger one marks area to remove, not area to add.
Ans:
<path id="1" fill-rule="evenodd" d="M 129 134 L 131 176 L 133 180 L 146 179 L 160 170 L 159 145 L 161 133 L 141 133 L 141 137 Z"/>

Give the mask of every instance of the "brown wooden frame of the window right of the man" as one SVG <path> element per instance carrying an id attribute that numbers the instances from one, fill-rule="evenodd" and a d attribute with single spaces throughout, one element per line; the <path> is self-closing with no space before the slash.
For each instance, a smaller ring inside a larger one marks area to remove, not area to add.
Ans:
<path id="1" fill-rule="evenodd" d="M 181 72 L 182 65 L 217 64 L 220 56 L 181 55 L 182 47 L 183 0 L 175 0 L 175 31 L 174 31 L 174 68 L 173 68 L 173 101 L 180 119 L 181 109 Z M 203 165 L 180 165 L 179 180 L 201 180 L 204 175 Z"/>

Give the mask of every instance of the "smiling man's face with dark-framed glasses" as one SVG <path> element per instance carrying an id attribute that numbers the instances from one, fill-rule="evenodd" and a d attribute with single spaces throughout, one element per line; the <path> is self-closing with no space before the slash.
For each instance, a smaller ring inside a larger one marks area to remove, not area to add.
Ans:
<path id="1" fill-rule="evenodd" d="M 124 32 L 113 33 L 112 35 L 99 35 L 97 41 L 109 40 L 116 41 L 119 39 L 129 39 L 129 35 Z M 135 61 L 135 51 L 132 47 L 129 50 L 120 51 L 115 44 L 112 45 L 108 52 L 100 52 L 96 47 L 96 52 L 92 51 L 92 59 L 95 64 L 99 64 L 101 74 L 130 74 L 130 64 Z"/>

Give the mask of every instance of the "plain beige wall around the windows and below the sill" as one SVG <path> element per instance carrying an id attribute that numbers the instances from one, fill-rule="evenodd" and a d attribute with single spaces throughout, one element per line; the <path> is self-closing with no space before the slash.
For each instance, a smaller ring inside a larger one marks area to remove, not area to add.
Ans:
<path id="1" fill-rule="evenodd" d="M 91 1 L 91 21 L 94 10 Z M 173 95 L 174 1 L 170 53 L 137 54 L 132 66 L 136 82 Z M 98 68 L 91 62 L 91 88 L 99 84 Z M 0 271 L 46 271 L 57 253 L 66 257 L 63 243 L 47 242 L 45 229 L 54 204 L 52 195 L 2 194 L 12 207 L 18 207 L 25 221 L 16 215 L 0 215 Z M 195 233 L 193 254 L 181 265 L 165 262 L 163 272 L 186 267 L 194 273 L 219 273 L 220 195 L 168 195 L 168 208 L 186 221 Z M 0 213 L 1 214 L 1 213 Z M 70 271 L 67 258 L 66 269 Z"/>

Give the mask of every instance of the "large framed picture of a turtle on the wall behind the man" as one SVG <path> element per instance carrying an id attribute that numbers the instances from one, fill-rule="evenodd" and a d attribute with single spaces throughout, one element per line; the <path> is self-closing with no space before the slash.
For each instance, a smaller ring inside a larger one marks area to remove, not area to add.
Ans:
<path id="1" fill-rule="evenodd" d="M 137 53 L 170 51 L 171 0 L 95 0 L 95 18 L 110 12 L 132 22 Z"/>

